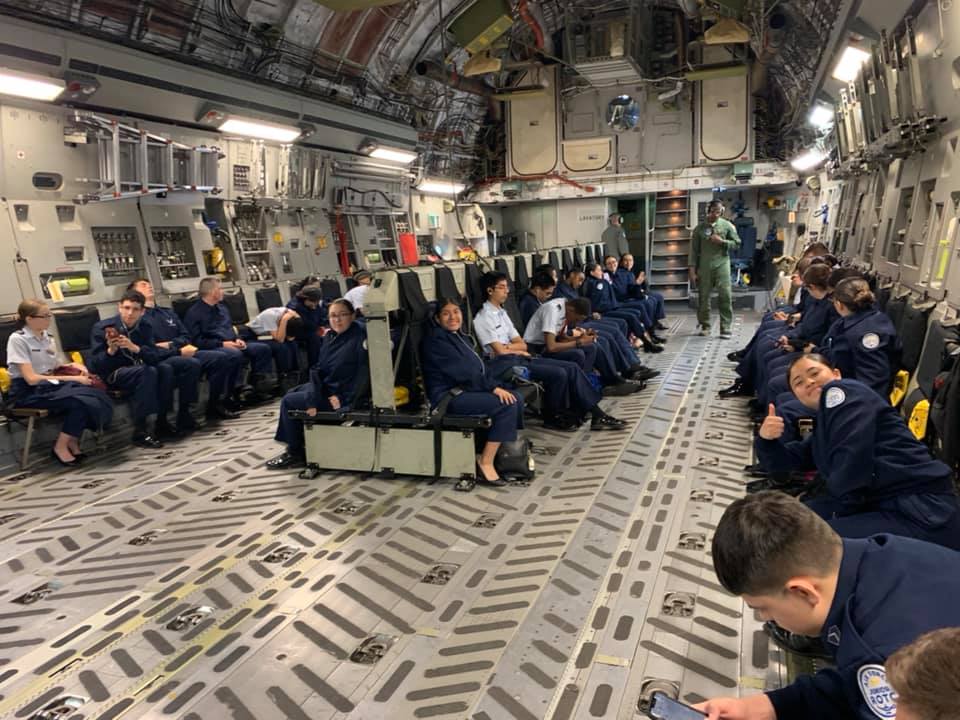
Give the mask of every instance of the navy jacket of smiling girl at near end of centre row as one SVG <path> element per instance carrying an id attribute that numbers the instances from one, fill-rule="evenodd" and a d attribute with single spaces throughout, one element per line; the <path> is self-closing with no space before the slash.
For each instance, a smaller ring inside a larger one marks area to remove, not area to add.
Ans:
<path id="1" fill-rule="evenodd" d="M 453 388 L 466 392 L 492 392 L 499 387 L 487 375 L 483 359 L 459 332 L 434 325 L 423 340 L 423 380 L 430 405 L 436 407 Z"/>

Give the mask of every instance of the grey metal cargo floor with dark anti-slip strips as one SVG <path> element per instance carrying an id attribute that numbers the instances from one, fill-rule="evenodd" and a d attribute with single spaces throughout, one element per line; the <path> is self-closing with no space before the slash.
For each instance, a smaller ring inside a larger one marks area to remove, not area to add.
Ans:
<path id="1" fill-rule="evenodd" d="M 531 427 L 529 486 L 268 472 L 276 404 L 0 481 L 0 717 L 69 694 L 74 719 L 624 719 L 651 681 L 688 702 L 777 686 L 709 556 L 751 444 L 715 391 L 755 322 L 724 342 L 675 316 L 646 356 L 663 374 L 604 401 L 629 431 Z M 439 564 L 446 584 L 424 582 Z M 351 660 L 377 635 L 379 661 Z"/>

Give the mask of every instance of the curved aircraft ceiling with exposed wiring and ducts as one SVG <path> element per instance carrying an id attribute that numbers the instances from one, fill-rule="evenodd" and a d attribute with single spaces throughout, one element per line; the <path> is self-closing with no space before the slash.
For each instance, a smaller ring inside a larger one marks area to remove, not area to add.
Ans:
<path id="1" fill-rule="evenodd" d="M 646 17 L 643 11 L 653 6 L 676 8 L 678 17 L 685 18 L 691 43 L 718 18 L 742 22 L 750 31 L 750 50 L 740 45 L 740 51 L 743 57 L 749 54 L 759 60 L 754 73 L 760 76 L 754 78 L 757 158 L 784 159 L 804 141 L 805 114 L 824 77 L 820 59 L 832 55 L 839 42 L 836 28 L 845 25 L 859 4 L 855 0 L 387 2 L 0 0 L 0 13 L 226 75 L 286 86 L 410 124 L 419 132 L 422 161 L 429 173 L 480 178 L 502 169 L 502 111 L 491 97 L 497 89 L 516 83 L 531 63 L 560 64 L 564 87 L 585 82 L 589 86 L 591 81 L 563 59 L 562 30 L 571 11 L 598 15 L 626 11 Z M 462 28 L 451 30 L 469 12 L 479 12 L 479 19 L 471 19 L 478 36 L 492 23 L 483 35 L 505 61 L 498 72 L 462 77 L 464 63 L 471 59 L 464 45 L 475 52 L 478 45 L 465 42 Z M 499 25 L 495 22 L 498 12 Z M 441 25 L 446 32 L 439 31 Z M 653 32 L 642 27 L 640 31 Z M 449 61 L 446 66 L 443 58 Z M 687 69 L 692 69 L 687 63 Z M 418 64 L 426 68 L 426 75 L 418 75 Z M 439 69 L 432 73 L 434 79 L 429 77 L 430 67 Z M 644 77 L 641 82 L 651 83 L 654 78 Z"/>

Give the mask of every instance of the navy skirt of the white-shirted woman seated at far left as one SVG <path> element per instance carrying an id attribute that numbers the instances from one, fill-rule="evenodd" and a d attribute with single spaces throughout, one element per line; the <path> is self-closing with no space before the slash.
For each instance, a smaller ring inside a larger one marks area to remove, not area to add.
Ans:
<path id="1" fill-rule="evenodd" d="M 14 407 L 39 408 L 57 415 L 63 414 L 60 432 L 80 437 L 84 430 L 97 431 L 105 428 L 113 419 L 113 401 L 96 388 L 73 382 L 59 385 L 43 382 L 28 385 L 17 378 L 10 388 Z"/>

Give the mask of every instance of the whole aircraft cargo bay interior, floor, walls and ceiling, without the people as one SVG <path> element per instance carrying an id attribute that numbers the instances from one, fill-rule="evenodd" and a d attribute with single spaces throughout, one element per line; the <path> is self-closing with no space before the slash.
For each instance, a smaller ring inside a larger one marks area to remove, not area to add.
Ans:
<path id="1" fill-rule="evenodd" d="M 784 300 L 778 260 L 820 241 L 922 328 L 901 412 L 926 422 L 960 310 L 952 2 L 0 16 L 4 344 L 27 298 L 82 360 L 137 278 L 176 309 L 218 277 L 244 324 L 305 278 L 329 302 L 368 270 L 373 404 L 408 418 L 362 440 L 362 422 L 311 428 L 311 452 L 352 460 L 301 475 L 264 467 L 279 400 L 144 450 L 116 397 L 61 468 L 57 418 L 5 402 L 0 717 L 635 718 L 655 691 L 747 696 L 810 669 L 714 575 L 712 531 L 754 459 L 749 412 L 717 390 Z M 697 334 L 688 277 L 717 198 L 743 241 L 729 340 Z M 521 292 L 540 263 L 602 261 L 612 214 L 666 301 L 668 342 L 642 355 L 659 376 L 603 400 L 623 431 L 530 418 L 535 476 L 458 492 L 473 430 L 394 390 L 409 288 L 475 312 L 471 268 Z M 469 445 L 465 463 L 437 443 Z"/>

